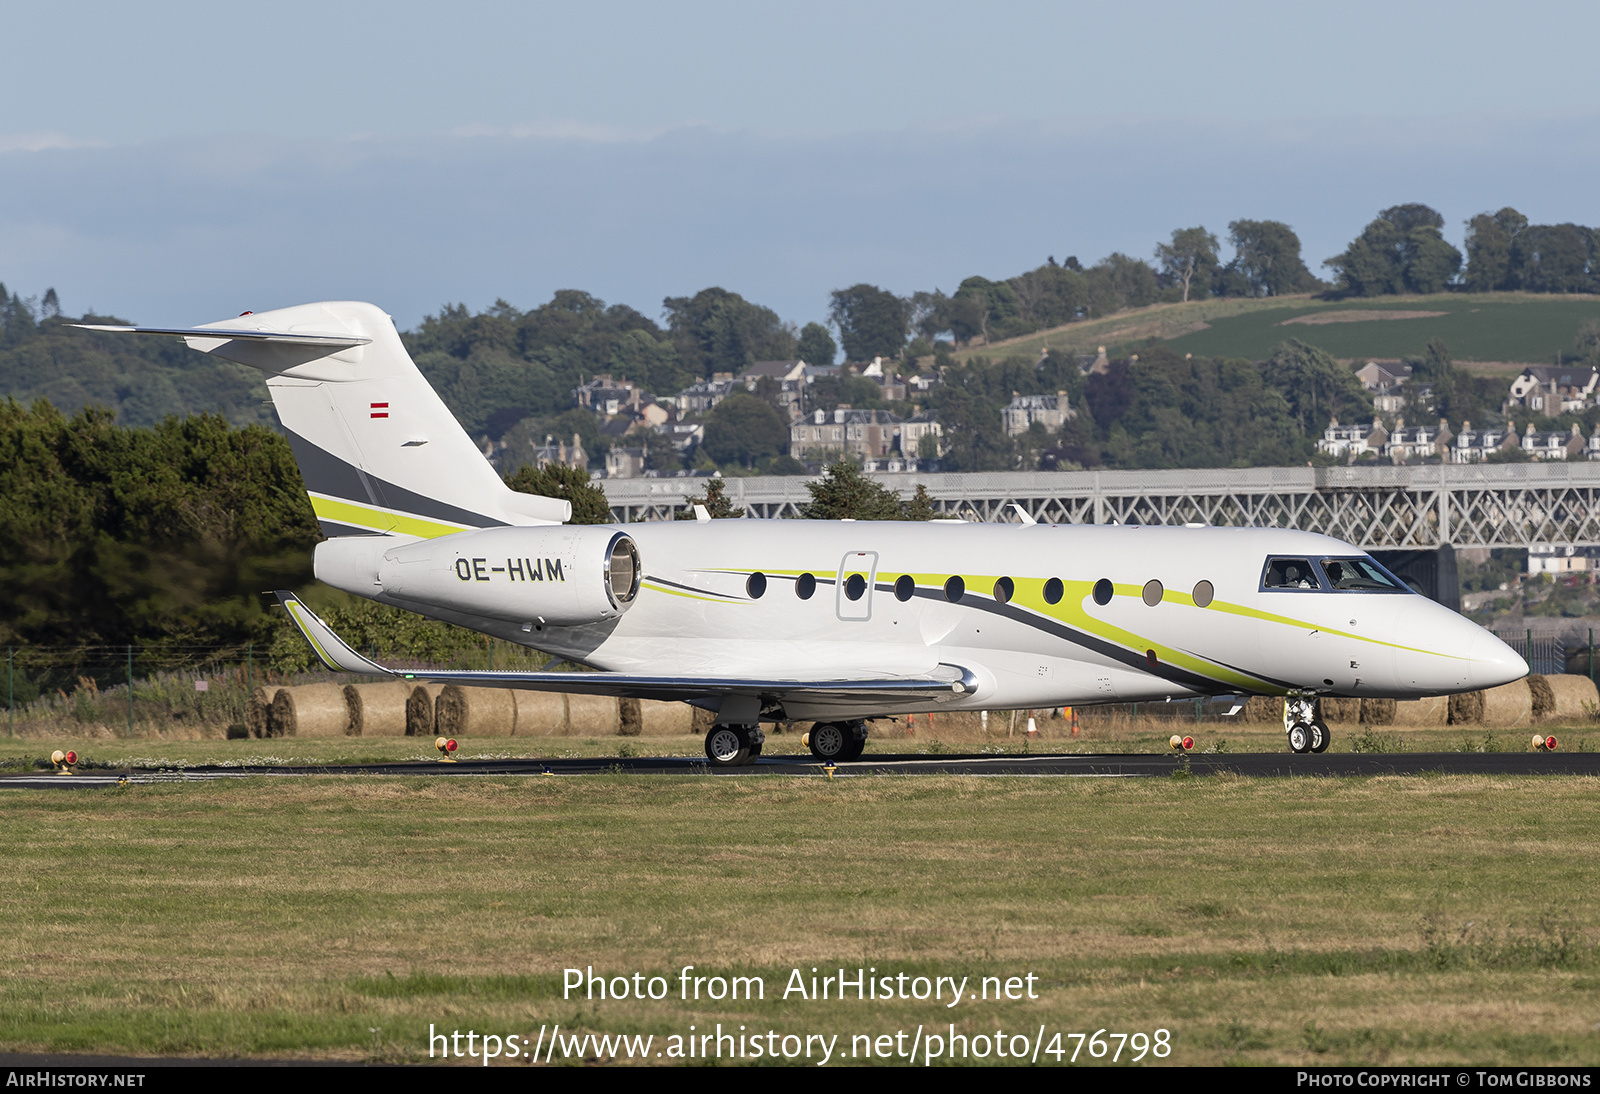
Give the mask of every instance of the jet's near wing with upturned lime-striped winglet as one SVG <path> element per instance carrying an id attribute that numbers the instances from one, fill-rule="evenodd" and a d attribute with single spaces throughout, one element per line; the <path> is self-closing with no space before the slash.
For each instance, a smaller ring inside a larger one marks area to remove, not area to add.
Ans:
<path id="1" fill-rule="evenodd" d="M 566 691 L 622 699 L 694 701 L 717 696 L 755 696 L 782 702 L 904 704 L 910 701 L 949 702 L 978 689 L 978 678 L 960 665 L 939 665 L 926 677 L 862 680 L 755 680 L 744 677 L 638 677 L 621 672 L 406 672 L 389 669 L 350 649 L 333 627 L 317 617 L 291 592 L 278 590 L 278 601 L 306 635 L 317 657 L 334 672 L 358 672 L 390 680 L 434 680 L 474 688 L 520 688 L 523 691 Z"/>

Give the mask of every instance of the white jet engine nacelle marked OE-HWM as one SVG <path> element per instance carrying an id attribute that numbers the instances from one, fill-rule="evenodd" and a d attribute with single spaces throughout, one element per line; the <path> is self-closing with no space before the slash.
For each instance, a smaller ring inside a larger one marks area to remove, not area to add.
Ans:
<path id="1" fill-rule="evenodd" d="M 638 595 L 638 549 L 603 525 L 483 528 L 392 544 L 384 536 L 318 544 L 317 577 L 362 597 L 549 627 L 614 619 Z"/>

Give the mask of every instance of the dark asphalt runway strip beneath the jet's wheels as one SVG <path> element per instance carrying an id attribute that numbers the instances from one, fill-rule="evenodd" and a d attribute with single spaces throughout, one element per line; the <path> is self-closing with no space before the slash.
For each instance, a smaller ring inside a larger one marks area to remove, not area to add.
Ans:
<path id="1" fill-rule="evenodd" d="M 1146 755 L 874 755 L 838 765 L 832 777 L 864 776 L 1058 776 L 1080 779 L 1168 777 L 1187 761 L 1195 776 L 1238 774 L 1251 777 L 1288 776 L 1418 776 L 1418 774 L 1563 774 L 1600 776 L 1600 752 L 1341 752 L 1294 755 L 1290 752 L 1189 753 L 1187 757 Z M 461 760 L 458 763 L 352 763 L 339 766 L 194 766 L 152 771 L 78 771 L 74 774 L 26 773 L 0 776 L 0 790 L 74 790 L 157 782 L 203 782 L 211 779 L 283 779 L 307 776 L 594 776 L 594 774 L 675 774 L 675 776 L 798 776 L 826 779 L 822 761 L 811 757 L 762 757 L 746 768 L 714 769 L 704 760 L 685 757 L 589 757 L 582 760 Z"/>

